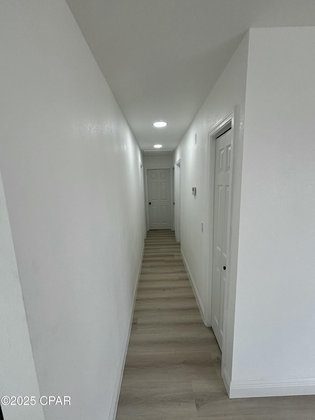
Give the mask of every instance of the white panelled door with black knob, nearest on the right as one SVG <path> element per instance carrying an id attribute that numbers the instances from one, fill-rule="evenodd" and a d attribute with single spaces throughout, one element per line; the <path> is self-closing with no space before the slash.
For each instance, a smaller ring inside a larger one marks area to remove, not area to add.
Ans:
<path id="1" fill-rule="evenodd" d="M 213 226 L 212 328 L 222 350 L 224 291 L 226 283 L 227 215 L 231 166 L 232 130 L 216 140 Z"/>

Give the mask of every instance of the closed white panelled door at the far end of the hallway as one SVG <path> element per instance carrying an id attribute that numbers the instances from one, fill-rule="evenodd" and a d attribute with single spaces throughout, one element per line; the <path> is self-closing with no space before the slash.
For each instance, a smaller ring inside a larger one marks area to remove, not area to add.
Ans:
<path id="1" fill-rule="evenodd" d="M 171 185 L 169 169 L 148 169 L 150 229 L 171 228 Z"/>

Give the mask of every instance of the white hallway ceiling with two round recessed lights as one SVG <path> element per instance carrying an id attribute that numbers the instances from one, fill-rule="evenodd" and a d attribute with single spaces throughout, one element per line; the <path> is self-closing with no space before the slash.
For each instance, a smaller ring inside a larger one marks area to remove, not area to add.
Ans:
<path id="1" fill-rule="evenodd" d="M 142 150 L 177 146 L 249 28 L 315 25 L 315 0 L 66 1 Z"/>

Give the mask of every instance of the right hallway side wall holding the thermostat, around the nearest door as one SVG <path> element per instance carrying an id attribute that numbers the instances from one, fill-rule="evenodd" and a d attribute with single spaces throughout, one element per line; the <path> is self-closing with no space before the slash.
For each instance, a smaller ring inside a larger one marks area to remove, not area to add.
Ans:
<path id="1" fill-rule="evenodd" d="M 243 152 L 243 130 L 245 112 L 245 89 L 248 57 L 248 34 L 237 48 L 230 62 L 224 69 L 214 89 L 207 97 L 194 118 L 189 130 L 181 140 L 174 153 L 173 162 L 181 158 L 181 247 L 186 259 L 190 277 L 199 296 L 199 306 L 204 313 L 205 322 L 209 323 L 211 308 L 207 305 L 209 280 L 205 275 L 209 256 L 205 255 L 209 227 L 207 226 L 207 165 L 208 165 L 208 132 L 233 107 L 236 106 L 234 132 L 234 185 L 233 185 L 233 218 L 231 231 L 232 260 L 230 267 L 229 302 L 229 341 L 226 343 L 226 369 L 231 374 L 233 351 L 233 326 L 235 282 L 237 273 L 237 245 L 239 224 L 239 202 L 241 185 L 241 168 Z M 194 135 L 197 133 L 197 144 Z M 197 188 L 196 196 L 191 188 Z M 204 231 L 201 232 L 201 222 Z M 210 289 L 211 292 L 211 289 Z M 211 299 L 210 302 L 211 303 Z"/>

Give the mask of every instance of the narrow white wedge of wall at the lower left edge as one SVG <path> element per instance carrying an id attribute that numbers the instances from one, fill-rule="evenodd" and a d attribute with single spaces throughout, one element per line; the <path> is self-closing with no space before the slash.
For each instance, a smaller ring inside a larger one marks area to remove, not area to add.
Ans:
<path id="1" fill-rule="evenodd" d="M 37 401 L 28 407 L 2 404 L 2 412 L 6 420 L 43 420 L 1 175 L 0 238 L 0 396 L 28 395 Z"/>

